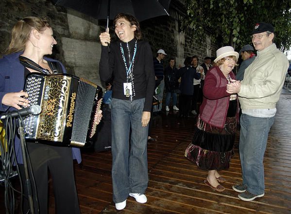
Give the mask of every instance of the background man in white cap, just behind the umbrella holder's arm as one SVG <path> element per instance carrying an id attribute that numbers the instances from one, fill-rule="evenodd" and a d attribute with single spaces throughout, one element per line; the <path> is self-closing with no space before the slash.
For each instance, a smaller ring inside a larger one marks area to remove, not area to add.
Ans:
<path id="1" fill-rule="evenodd" d="M 163 49 L 160 49 L 157 51 L 156 58 L 154 58 L 154 75 L 155 79 L 160 81 L 160 84 L 158 85 L 158 90 L 156 90 L 158 93 L 156 94 L 156 98 L 162 102 L 163 101 L 163 95 L 164 95 L 164 66 L 162 60 L 165 58 L 167 54 Z M 158 112 L 162 109 L 162 103 L 160 103 L 157 106 L 153 107 L 154 112 Z"/>

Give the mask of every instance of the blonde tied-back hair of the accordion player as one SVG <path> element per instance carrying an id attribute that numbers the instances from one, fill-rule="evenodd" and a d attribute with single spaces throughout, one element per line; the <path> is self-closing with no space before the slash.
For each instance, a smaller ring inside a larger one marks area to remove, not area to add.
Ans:
<path id="1" fill-rule="evenodd" d="M 44 18 L 26 17 L 16 22 L 12 29 L 11 42 L 6 50 L 6 54 L 24 51 L 32 29 L 43 32 L 47 27 L 51 27 Z"/>

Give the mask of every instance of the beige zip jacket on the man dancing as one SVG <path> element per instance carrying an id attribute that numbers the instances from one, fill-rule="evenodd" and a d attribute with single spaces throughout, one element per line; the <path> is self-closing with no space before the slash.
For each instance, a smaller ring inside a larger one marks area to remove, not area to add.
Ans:
<path id="1" fill-rule="evenodd" d="M 275 108 L 285 81 L 289 61 L 273 43 L 257 52 L 245 70 L 239 95 L 241 109 Z"/>

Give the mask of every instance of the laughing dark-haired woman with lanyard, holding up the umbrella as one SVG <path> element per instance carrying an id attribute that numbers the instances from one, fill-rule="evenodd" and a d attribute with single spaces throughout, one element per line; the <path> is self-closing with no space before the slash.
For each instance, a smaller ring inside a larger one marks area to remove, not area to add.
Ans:
<path id="1" fill-rule="evenodd" d="M 117 210 L 126 206 L 128 196 L 147 202 L 147 139 L 154 94 L 154 64 L 148 42 L 140 41 L 137 19 L 118 14 L 114 18 L 119 41 L 110 45 L 110 34 L 100 35 L 102 53 L 100 78 L 114 76 L 111 101 L 112 184 Z"/>

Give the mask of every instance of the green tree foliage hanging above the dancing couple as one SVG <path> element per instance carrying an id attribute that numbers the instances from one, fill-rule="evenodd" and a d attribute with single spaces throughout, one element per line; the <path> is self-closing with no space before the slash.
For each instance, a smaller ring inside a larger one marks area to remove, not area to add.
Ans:
<path id="1" fill-rule="evenodd" d="M 291 0 L 186 0 L 185 32 L 201 41 L 210 32 L 213 42 L 240 49 L 251 44 L 257 22 L 273 24 L 275 43 L 282 51 L 291 47 Z"/>

